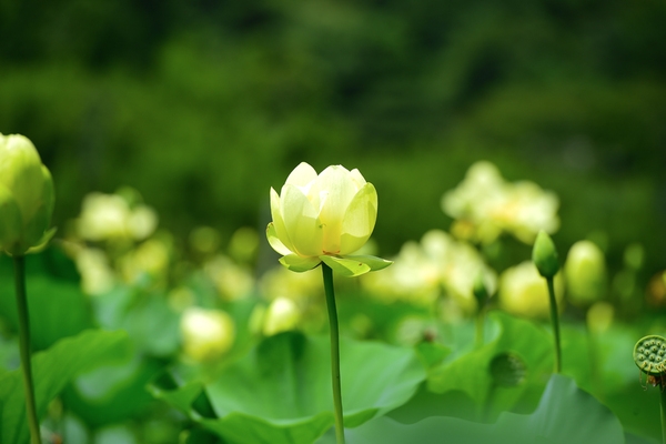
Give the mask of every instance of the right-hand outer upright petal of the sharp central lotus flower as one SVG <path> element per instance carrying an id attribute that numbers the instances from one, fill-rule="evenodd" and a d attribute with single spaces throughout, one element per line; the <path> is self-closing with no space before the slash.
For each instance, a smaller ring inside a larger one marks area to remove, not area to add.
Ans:
<path id="1" fill-rule="evenodd" d="M 377 219 L 377 192 L 372 183 L 366 183 L 354 195 L 343 221 L 340 254 L 355 252 L 367 242 Z"/>

